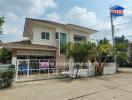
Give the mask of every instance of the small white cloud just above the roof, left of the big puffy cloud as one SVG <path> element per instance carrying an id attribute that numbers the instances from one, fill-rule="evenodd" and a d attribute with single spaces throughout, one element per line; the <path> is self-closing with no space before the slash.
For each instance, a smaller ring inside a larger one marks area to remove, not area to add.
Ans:
<path id="1" fill-rule="evenodd" d="M 51 21 L 60 22 L 60 15 L 57 12 L 47 14 L 46 18 Z"/>

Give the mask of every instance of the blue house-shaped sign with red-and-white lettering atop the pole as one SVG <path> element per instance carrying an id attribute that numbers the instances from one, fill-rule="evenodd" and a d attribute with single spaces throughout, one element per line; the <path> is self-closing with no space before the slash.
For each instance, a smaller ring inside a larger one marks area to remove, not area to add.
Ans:
<path id="1" fill-rule="evenodd" d="M 123 16 L 124 8 L 118 5 L 111 7 L 111 15 L 113 17 Z"/>

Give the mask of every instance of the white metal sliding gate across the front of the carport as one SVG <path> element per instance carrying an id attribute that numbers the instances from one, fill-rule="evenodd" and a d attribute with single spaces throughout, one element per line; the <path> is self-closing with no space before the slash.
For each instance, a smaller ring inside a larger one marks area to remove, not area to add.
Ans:
<path id="1" fill-rule="evenodd" d="M 55 59 L 17 60 L 16 81 L 62 78 L 68 70 L 68 66 L 58 67 Z"/>

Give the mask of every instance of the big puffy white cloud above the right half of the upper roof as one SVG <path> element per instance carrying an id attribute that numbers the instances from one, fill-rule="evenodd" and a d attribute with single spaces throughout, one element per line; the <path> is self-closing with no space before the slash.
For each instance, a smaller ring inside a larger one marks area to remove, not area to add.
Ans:
<path id="1" fill-rule="evenodd" d="M 94 12 L 78 6 L 75 6 L 67 13 L 66 19 L 70 23 L 80 24 L 85 27 L 93 27 L 98 22 Z"/>

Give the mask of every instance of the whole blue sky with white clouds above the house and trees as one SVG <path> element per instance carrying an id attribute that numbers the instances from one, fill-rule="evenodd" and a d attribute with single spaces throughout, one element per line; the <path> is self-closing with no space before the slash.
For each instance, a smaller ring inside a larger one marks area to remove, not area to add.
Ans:
<path id="1" fill-rule="evenodd" d="M 132 0 L 0 0 L 0 16 L 4 16 L 3 42 L 20 41 L 25 18 L 38 18 L 93 28 L 99 32 L 91 40 L 111 40 L 109 8 L 120 5 L 124 16 L 114 20 L 115 36 L 132 40 Z"/>

